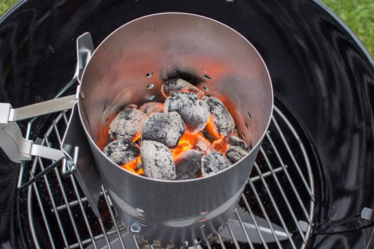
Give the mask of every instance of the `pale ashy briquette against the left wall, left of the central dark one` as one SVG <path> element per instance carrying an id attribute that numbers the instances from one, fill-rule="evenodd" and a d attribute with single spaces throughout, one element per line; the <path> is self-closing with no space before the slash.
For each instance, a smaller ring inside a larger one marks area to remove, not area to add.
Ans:
<path id="1" fill-rule="evenodd" d="M 110 137 L 127 138 L 134 141 L 140 136 L 141 127 L 148 116 L 137 109 L 120 111 L 109 125 Z"/>

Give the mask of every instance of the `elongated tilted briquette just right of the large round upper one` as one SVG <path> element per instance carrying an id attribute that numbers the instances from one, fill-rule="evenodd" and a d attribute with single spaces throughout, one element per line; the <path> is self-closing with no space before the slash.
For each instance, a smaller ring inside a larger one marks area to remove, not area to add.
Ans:
<path id="1" fill-rule="evenodd" d="M 208 105 L 212 113 L 210 123 L 213 134 L 218 137 L 229 136 L 233 133 L 235 122 L 230 112 L 227 111 L 220 99 L 216 97 L 204 96 L 203 99 Z"/>

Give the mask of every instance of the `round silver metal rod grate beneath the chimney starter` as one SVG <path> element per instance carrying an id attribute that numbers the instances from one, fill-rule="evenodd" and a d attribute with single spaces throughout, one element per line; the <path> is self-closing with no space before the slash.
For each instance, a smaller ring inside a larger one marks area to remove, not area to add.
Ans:
<path id="1" fill-rule="evenodd" d="M 53 119 L 39 143 L 59 148 L 67 113 Z M 38 142 L 38 141 L 36 141 Z M 292 148 L 292 149 L 291 149 Z M 50 161 L 34 158 L 35 175 Z M 154 248 L 126 230 L 104 186 L 95 217 L 73 175 L 55 168 L 28 188 L 27 209 L 36 248 Z M 306 149 L 294 127 L 275 107 L 248 184 L 229 225 L 193 248 L 305 248 L 314 212 L 314 185 Z"/>

